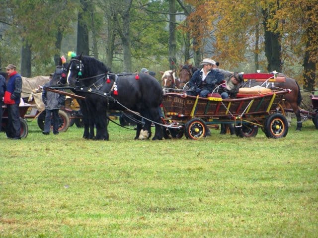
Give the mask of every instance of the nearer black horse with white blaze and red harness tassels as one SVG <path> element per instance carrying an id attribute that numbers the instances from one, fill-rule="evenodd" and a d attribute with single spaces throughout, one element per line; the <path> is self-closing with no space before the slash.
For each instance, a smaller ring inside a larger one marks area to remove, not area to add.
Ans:
<path id="1" fill-rule="evenodd" d="M 67 82 L 77 95 L 85 97 L 89 126 L 95 125 L 97 140 L 108 140 L 107 110 L 131 110 L 135 117 L 145 118 L 145 125 L 137 124 L 135 139 L 151 137 L 151 123 L 155 123 L 153 140 L 162 139 L 158 107 L 162 100 L 159 82 L 149 74 L 115 75 L 99 60 L 79 55 L 68 65 Z M 137 114 L 139 113 L 139 115 Z"/>

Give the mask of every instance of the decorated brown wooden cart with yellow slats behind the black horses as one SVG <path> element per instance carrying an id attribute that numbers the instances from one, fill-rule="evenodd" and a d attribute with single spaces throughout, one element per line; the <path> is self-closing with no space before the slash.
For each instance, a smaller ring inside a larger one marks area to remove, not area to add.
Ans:
<path id="1" fill-rule="evenodd" d="M 255 136 L 261 127 L 269 138 L 285 137 L 288 123 L 284 115 L 277 113 L 279 103 L 289 89 L 260 88 L 239 93 L 236 99 L 193 97 L 187 94 L 163 95 L 163 110 L 166 116 L 164 137 L 200 139 L 207 135 L 208 127 L 215 124 L 233 123 L 236 135 Z"/>

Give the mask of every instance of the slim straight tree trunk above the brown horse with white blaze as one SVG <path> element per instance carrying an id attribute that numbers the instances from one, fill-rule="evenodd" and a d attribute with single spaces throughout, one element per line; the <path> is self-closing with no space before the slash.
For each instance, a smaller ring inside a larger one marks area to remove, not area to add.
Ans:
<path id="1" fill-rule="evenodd" d="M 169 64 L 170 69 L 176 68 L 176 37 L 175 37 L 175 0 L 169 1 Z"/>

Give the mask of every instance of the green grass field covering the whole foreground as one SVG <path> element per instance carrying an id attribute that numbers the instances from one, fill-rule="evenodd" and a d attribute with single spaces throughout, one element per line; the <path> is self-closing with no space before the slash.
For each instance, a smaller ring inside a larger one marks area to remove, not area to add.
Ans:
<path id="1" fill-rule="evenodd" d="M 318 237 L 318 130 L 109 141 L 0 133 L 0 237 Z M 153 131 L 154 133 L 154 131 Z"/>

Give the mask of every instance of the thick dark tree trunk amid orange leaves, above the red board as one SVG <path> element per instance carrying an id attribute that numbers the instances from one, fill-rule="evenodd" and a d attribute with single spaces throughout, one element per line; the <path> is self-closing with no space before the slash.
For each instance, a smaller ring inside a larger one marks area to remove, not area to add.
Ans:
<path id="1" fill-rule="evenodd" d="M 267 27 L 270 16 L 267 14 L 266 9 L 262 10 L 263 13 L 263 26 L 264 26 L 264 37 L 265 37 L 265 56 L 268 61 L 267 70 L 269 72 L 276 70 L 277 72 L 282 71 L 282 51 L 280 44 L 280 34 L 270 31 Z M 277 26 L 275 27 L 277 29 Z"/>

